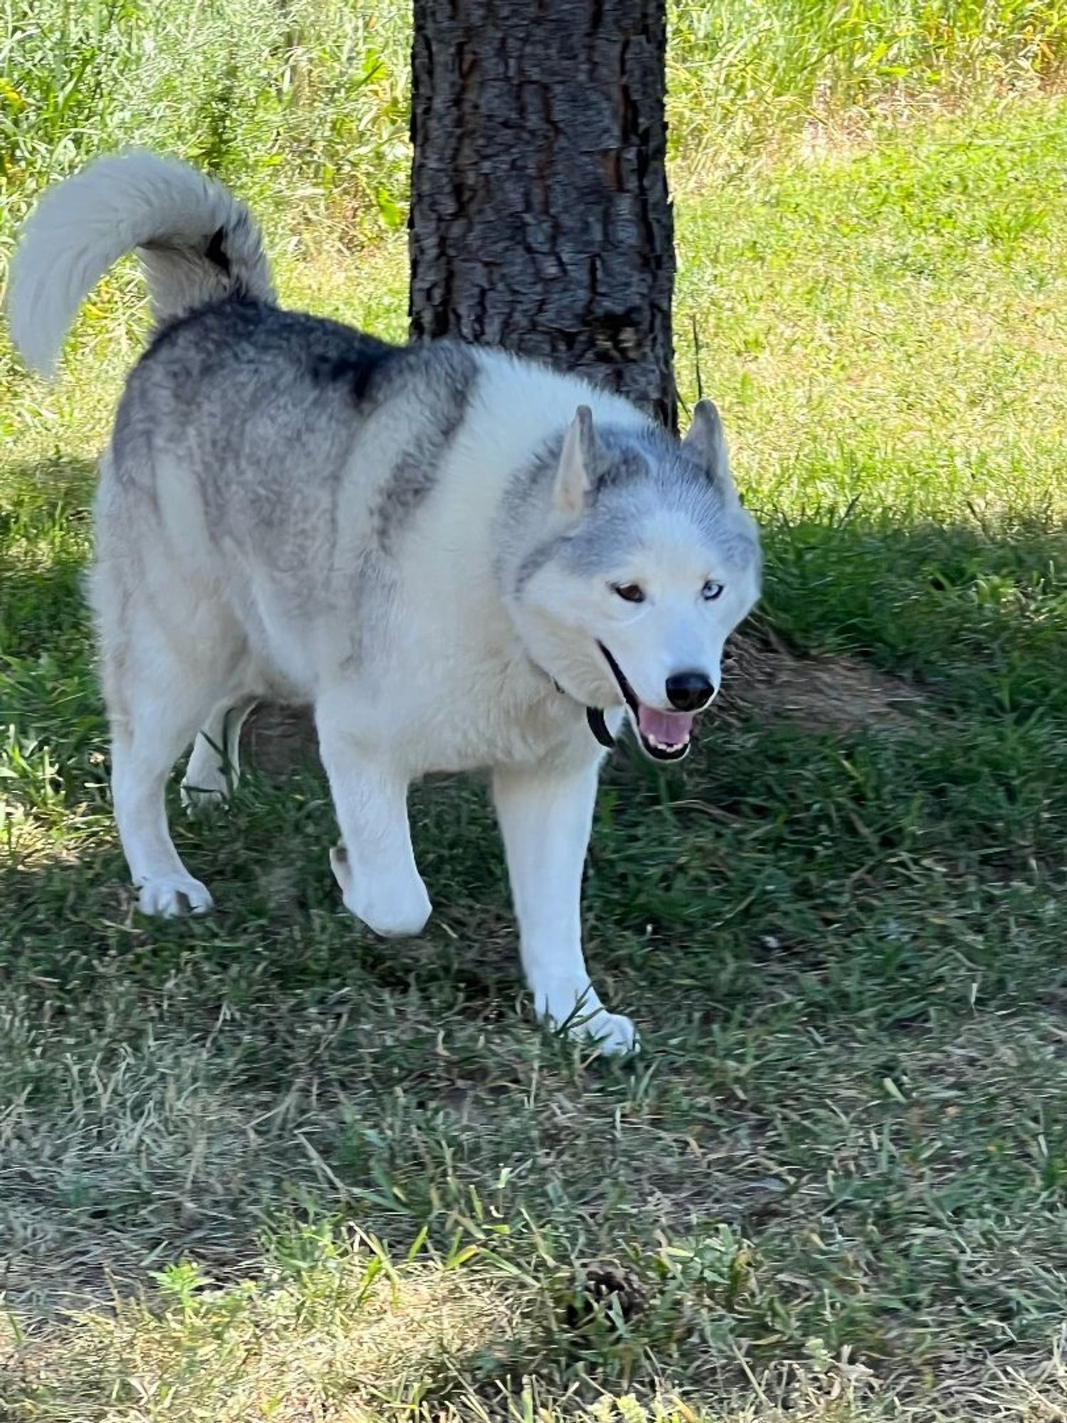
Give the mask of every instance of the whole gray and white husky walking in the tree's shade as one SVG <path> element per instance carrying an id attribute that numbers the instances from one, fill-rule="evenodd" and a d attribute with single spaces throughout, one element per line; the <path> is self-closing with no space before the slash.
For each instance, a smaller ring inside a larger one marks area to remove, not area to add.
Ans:
<path id="1" fill-rule="evenodd" d="M 755 525 L 701 401 L 683 441 L 499 350 L 390 346 L 280 310 L 242 202 L 148 152 L 101 158 L 24 228 L 9 296 L 50 371 L 80 303 L 137 250 L 155 333 L 104 454 L 91 578 L 115 820 L 145 914 L 201 914 L 164 791 L 225 798 L 259 699 L 310 703 L 347 908 L 418 933 L 407 788 L 488 767 L 538 1013 L 636 1046 L 582 955 L 603 747 L 629 717 L 686 754 L 760 588 Z"/>

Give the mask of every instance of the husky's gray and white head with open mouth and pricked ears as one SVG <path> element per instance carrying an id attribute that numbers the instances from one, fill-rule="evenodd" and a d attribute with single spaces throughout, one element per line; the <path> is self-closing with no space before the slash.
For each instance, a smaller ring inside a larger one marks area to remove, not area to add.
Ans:
<path id="1" fill-rule="evenodd" d="M 582 406 L 553 471 L 545 536 L 512 615 L 531 656 L 592 707 L 625 703 L 643 750 L 677 760 L 718 692 L 723 645 L 760 596 L 760 539 L 716 407 L 684 440 L 595 428 Z"/>

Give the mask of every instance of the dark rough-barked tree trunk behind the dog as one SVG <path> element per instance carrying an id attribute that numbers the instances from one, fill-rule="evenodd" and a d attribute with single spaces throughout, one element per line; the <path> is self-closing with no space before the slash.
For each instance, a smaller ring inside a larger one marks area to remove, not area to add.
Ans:
<path id="1" fill-rule="evenodd" d="M 663 0 L 414 0 L 411 336 L 579 370 L 674 428 Z"/>

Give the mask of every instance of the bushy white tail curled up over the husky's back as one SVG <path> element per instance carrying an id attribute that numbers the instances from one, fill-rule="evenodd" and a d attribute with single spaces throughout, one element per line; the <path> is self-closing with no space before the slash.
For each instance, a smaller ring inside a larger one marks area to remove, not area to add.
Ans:
<path id="1" fill-rule="evenodd" d="M 259 228 L 222 184 L 139 149 L 98 158 L 51 188 L 21 231 L 7 316 L 27 364 L 51 373 L 81 303 L 134 250 L 156 322 L 226 296 L 275 299 Z"/>

